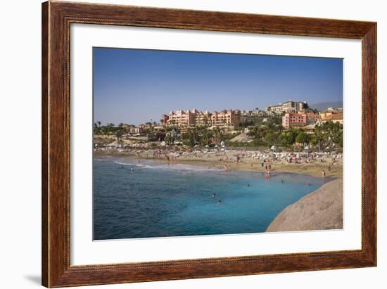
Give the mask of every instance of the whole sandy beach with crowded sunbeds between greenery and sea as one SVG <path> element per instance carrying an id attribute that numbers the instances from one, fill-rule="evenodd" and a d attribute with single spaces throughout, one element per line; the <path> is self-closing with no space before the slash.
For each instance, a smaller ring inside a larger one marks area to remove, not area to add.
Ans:
<path id="1" fill-rule="evenodd" d="M 343 159 L 337 155 L 322 153 L 272 153 L 269 151 L 241 151 L 228 150 L 226 152 L 213 152 L 196 150 L 182 152 L 175 150 L 95 150 L 94 157 L 106 155 L 127 158 L 156 159 L 160 162 L 198 165 L 202 167 L 215 167 L 220 169 L 234 169 L 243 172 L 292 172 L 296 174 L 309 174 L 322 177 L 322 170 L 326 177 L 341 178 L 343 176 Z M 289 155 L 293 161 L 289 162 Z M 262 166 L 263 163 L 263 166 Z"/>

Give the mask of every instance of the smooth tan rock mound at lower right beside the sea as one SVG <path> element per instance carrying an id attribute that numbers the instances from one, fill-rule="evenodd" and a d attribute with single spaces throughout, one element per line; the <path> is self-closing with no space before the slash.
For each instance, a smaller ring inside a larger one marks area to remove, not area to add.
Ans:
<path id="1" fill-rule="evenodd" d="M 267 232 L 343 229 L 343 179 L 336 179 L 288 205 Z"/>

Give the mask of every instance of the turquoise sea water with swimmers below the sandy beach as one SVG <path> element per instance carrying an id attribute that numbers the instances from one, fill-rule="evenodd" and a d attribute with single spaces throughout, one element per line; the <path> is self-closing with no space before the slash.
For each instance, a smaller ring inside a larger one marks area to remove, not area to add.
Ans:
<path id="1" fill-rule="evenodd" d="M 259 233 L 322 184 L 305 174 L 265 180 L 260 172 L 95 159 L 94 240 Z"/>

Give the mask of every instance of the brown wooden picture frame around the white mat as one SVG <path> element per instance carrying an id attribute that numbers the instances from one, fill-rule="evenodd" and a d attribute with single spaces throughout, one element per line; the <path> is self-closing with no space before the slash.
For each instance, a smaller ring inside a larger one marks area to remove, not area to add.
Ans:
<path id="1" fill-rule="evenodd" d="M 362 249 L 70 266 L 70 24 L 340 37 L 362 41 Z M 376 266 L 376 23 L 243 13 L 42 4 L 42 285 L 238 276 Z"/>

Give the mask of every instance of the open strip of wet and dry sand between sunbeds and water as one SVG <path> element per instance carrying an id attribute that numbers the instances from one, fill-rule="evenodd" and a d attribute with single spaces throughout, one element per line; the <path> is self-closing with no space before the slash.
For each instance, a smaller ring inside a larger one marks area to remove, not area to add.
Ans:
<path id="1" fill-rule="evenodd" d="M 260 160 L 252 159 L 243 159 L 240 162 L 233 162 L 229 160 L 219 160 L 219 157 L 212 158 L 174 158 L 173 160 L 168 160 L 167 158 L 155 158 L 153 156 L 144 155 L 141 153 L 125 153 L 118 151 L 94 151 L 93 156 L 103 157 L 111 156 L 118 158 L 134 158 L 134 159 L 143 159 L 143 160 L 157 160 L 158 162 L 170 163 L 170 164 L 183 164 L 183 165 L 196 165 L 201 167 L 213 167 L 217 169 L 227 169 L 236 170 L 240 172 L 261 172 L 265 173 L 265 167 L 261 167 Z M 326 172 L 326 178 L 342 178 L 343 177 L 343 167 L 341 164 L 336 164 L 335 166 L 329 162 L 319 163 L 306 163 L 306 164 L 296 164 L 296 163 L 284 163 L 284 162 L 267 162 L 272 166 L 272 173 L 293 173 L 293 174 L 307 174 L 310 176 L 322 177 L 322 169 Z M 331 170 L 329 171 L 329 166 Z"/>

